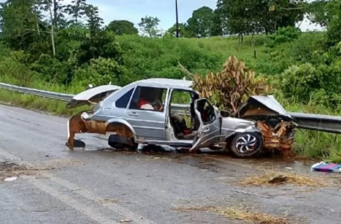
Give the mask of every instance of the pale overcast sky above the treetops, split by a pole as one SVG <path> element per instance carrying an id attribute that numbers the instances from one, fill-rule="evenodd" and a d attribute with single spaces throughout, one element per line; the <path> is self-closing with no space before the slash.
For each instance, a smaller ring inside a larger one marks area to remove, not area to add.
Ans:
<path id="1" fill-rule="evenodd" d="M 0 0 L 4 2 L 5 0 Z M 71 0 L 64 0 L 68 3 Z M 142 17 L 152 16 L 160 19 L 159 28 L 167 30 L 175 23 L 175 0 L 87 0 L 89 4 L 98 7 L 99 15 L 107 24 L 113 20 L 128 20 L 137 27 Z M 179 22 L 186 22 L 192 16 L 193 10 L 202 6 L 216 7 L 217 0 L 178 0 Z M 315 24 L 305 20 L 300 28 L 320 29 Z"/>

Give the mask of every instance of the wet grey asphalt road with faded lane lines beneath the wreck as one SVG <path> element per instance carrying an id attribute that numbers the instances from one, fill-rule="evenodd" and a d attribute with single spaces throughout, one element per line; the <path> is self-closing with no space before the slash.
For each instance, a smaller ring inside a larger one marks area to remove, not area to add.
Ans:
<path id="1" fill-rule="evenodd" d="M 304 191 L 290 185 L 246 188 L 235 183 L 261 165 L 323 175 L 313 174 L 311 163 L 117 152 L 108 148 L 105 136 L 91 134 L 76 135 L 86 147 L 69 151 L 66 121 L 0 105 L 0 162 L 47 168 L 0 182 L 0 224 L 114 224 L 123 219 L 141 224 L 237 224 L 243 222 L 175 208 L 240 205 L 272 215 L 286 213 L 292 223 L 341 223 L 338 187 Z"/>

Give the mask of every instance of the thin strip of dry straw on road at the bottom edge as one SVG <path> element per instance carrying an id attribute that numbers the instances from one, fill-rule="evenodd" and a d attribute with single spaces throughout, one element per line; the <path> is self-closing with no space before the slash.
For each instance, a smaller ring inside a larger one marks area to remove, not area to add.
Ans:
<path id="1" fill-rule="evenodd" d="M 289 220 L 283 217 L 271 216 L 261 212 L 251 212 L 250 208 L 241 207 L 214 207 L 214 206 L 202 206 L 202 207 L 179 207 L 175 211 L 187 212 L 187 211 L 206 211 L 213 212 L 223 217 L 230 219 L 243 220 L 250 224 L 289 224 Z M 252 209 L 253 210 L 253 209 Z"/>

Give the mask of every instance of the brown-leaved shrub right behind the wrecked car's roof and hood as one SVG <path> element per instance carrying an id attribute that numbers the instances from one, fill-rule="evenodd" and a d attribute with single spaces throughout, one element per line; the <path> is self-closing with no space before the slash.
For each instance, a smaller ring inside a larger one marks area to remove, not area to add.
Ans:
<path id="1" fill-rule="evenodd" d="M 205 77 L 191 74 L 185 67 L 182 70 L 193 78 L 193 88 L 198 90 L 200 97 L 206 97 L 220 109 L 237 112 L 243 101 L 250 95 L 266 95 L 271 86 L 265 77 L 255 77 L 253 70 L 234 56 L 228 58 L 221 71 L 209 72 Z M 218 97 L 218 98 L 217 98 Z"/>

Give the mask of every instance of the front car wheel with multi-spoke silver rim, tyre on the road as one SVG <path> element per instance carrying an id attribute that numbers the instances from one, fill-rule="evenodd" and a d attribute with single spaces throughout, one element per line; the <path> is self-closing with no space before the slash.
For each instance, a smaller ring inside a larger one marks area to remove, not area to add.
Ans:
<path id="1" fill-rule="evenodd" d="M 231 151 L 236 157 L 252 157 L 261 152 L 263 138 L 257 132 L 245 132 L 235 135 L 231 142 Z"/>

